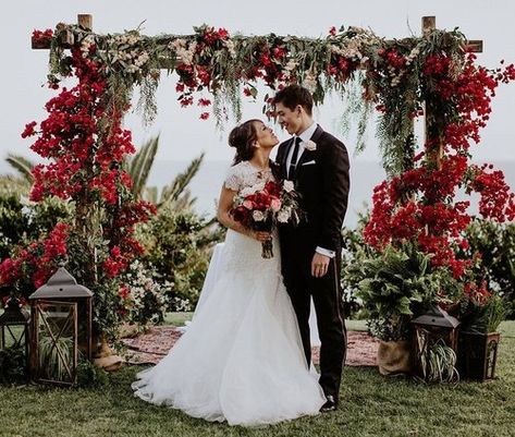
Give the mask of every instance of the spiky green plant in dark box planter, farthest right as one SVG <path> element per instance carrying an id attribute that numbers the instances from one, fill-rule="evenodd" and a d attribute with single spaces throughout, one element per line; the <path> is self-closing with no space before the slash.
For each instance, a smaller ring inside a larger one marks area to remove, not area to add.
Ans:
<path id="1" fill-rule="evenodd" d="M 462 378 L 478 381 L 495 377 L 499 325 L 504 319 L 506 305 L 499 294 L 469 293 L 462 308 L 458 369 Z"/>

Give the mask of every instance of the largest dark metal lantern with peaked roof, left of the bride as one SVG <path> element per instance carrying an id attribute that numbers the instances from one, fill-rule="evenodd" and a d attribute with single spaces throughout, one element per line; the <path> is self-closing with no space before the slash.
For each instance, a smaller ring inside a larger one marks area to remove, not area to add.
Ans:
<path id="1" fill-rule="evenodd" d="M 91 360 L 93 293 L 60 267 L 30 300 L 30 376 L 76 383 L 78 353 Z"/>

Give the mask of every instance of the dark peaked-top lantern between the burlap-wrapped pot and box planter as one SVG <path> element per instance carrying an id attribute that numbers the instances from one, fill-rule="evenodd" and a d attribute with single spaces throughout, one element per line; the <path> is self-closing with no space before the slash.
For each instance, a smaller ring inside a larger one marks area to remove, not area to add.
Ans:
<path id="1" fill-rule="evenodd" d="M 436 380 L 429 376 L 433 371 L 431 359 L 437 352 L 449 350 L 446 348 L 450 348 L 452 351 L 443 356 L 446 360 L 445 365 L 452 367 L 452 374 L 454 374 L 459 320 L 437 306 L 428 313 L 414 318 L 412 326 L 412 356 L 415 376 L 425 380 Z M 450 355 L 452 355 L 452 360 Z M 442 355 L 438 359 L 441 360 Z M 441 375 L 439 377 L 441 380 Z M 452 375 L 450 376 L 451 378 Z"/>

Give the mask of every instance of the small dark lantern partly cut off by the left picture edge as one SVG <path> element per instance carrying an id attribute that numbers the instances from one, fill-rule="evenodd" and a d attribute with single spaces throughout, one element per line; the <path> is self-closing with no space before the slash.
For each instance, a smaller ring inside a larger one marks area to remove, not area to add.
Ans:
<path id="1" fill-rule="evenodd" d="M 0 351 L 15 351 L 20 354 L 25 378 L 28 376 L 28 313 L 21 307 L 20 300 L 11 294 L 0 315 Z"/>

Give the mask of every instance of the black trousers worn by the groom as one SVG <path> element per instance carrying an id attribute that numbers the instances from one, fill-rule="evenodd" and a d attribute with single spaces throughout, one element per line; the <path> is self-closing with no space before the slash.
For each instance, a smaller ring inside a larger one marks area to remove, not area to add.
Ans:
<path id="1" fill-rule="evenodd" d="M 282 270 L 286 290 L 297 316 L 304 353 L 311 362 L 309 331 L 310 296 L 317 314 L 320 336 L 320 386 L 326 394 L 338 399 L 346 355 L 346 328 L 340 287 L 341 253 L 331 259 L 322 278 L 311 276 L 315 250 L 282 247 Z"/>

